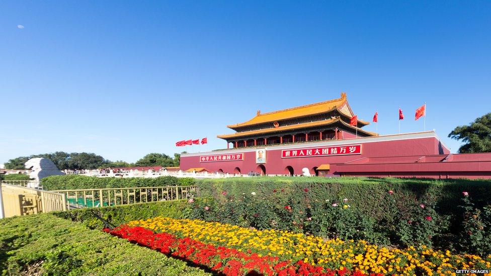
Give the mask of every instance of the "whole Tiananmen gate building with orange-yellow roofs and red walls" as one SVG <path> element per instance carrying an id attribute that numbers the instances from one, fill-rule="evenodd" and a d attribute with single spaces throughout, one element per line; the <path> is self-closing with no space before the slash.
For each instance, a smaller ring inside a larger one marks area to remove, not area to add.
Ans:
<path id="1" fill-rule="evenodd" d="M 491 178 L 491 153 L 451 154 L 434 131 L 378 135 L 339 99 L 261 113 L 218 135 L 227 149 L 181 155 L 181 169 L 320 176 Z"/>

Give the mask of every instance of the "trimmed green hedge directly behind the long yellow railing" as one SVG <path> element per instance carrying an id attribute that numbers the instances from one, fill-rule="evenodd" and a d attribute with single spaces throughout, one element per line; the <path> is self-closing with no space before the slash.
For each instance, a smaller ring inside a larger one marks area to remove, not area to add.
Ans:
<path id="1" fill-rule="evenodd" d="M 143 177 L 96 177 L 85 175 L 53 175 L 41 179 L 44 190 L 75 190 L 100 188 L 132 188 L 132 187 L 158 187 L 158 186 L 191 186 L 193 178 L 178 178 L 174 176 L 160 176 L 156 178 Z"/>

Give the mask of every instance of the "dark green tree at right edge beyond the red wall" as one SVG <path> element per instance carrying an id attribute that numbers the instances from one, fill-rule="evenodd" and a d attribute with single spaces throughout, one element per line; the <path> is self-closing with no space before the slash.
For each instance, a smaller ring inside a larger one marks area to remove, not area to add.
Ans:
<path id="1" fill-rule="evenodd" d="M 456 127 L 448 137 L 465 143 L 459 153 L 491 152 L 491 113 L 475 119 L 468 126 Z"/>

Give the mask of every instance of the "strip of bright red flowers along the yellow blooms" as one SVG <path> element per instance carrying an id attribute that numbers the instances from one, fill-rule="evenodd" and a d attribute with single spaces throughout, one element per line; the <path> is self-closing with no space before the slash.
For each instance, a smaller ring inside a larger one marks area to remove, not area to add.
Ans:
<path id="1" fill-rule="evenodd" d="M 365 275 L 361 271 L 351 272 L 346 267 L 340 269 L 329 269 L 313 266 L 303 261 L 292 264 L 291 261 L 280 261 L 278 256 L 262 256 L 261 254 L 241 252 L 237 249 L 223 246 L 214 246 L 193 240 L 189 237 L 178 238 L 169 233 L 154 233 L 143 227 L 129 227 L 123 225 L 119 228 L 105 232 L 115 236 L 136 242 L 139 245 L 156 249 L 165 254 L 192 261 L 198 265 L 205 265 L 214 272 L 225 275 Z M 256 272 L 256 273 L 254 273 Z M 381 274 L 373 274 L 381 275 Z"/>

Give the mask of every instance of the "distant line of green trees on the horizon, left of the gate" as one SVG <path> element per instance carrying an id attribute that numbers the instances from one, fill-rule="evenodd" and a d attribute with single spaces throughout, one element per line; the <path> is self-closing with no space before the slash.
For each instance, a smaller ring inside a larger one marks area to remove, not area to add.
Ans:
<path id="1" fill-rule="evenodd" d="M 64 170 L 64 169 L 77 170 L 77 169 L 96 169 L 96 168 L 107 168 L 107 167 L 179 166 L 181 154 L 174 153 L 174 157 L 171 157 L 164 153 L 149 153 L 143 156 L 143 158 L 140 158 L 135 163 L 128 163 L 122 160 L 111 161 L 95 153 L 88 153 L 88 152 L 67 153 L 64 151 L 57 151 L 54 153 L 33 154 L 30 156 L 20 156 L 17 158 L 13 158 L 5 163 L 5 168 L 25 169 L 24 163 L 31 158 L 37 158 L 37 157 L 50 159 L 60 170 Z"/>

